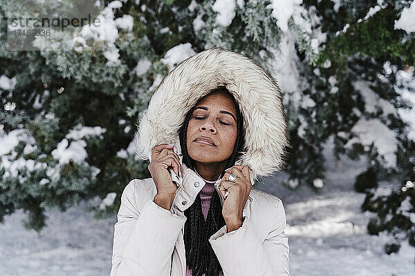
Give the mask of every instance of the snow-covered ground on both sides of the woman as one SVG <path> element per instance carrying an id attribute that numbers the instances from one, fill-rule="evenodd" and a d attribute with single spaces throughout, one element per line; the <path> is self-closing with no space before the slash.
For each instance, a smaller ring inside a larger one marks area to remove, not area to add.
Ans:
<path id="1" fill-rule="evenodd" d="M 257 186 L 284 202 L 292 276 L 415 275 L 414 248 L 402 244 L 398 254 L 386 255 L 382 245 L 387 235 L 366 233 L 374 214 L 360 212 L 364 195 L 353 192 L 351 180 L 363 165 L 341 160 L 335 166 L 328 157 L 326 186 L 320 195 L 307 187 L 293 193 L 276 186 L 282 177 Z M 23 212 L 6 217 L 0 225 L 0 275 L 109 275 L 116 217 L 96 221 L 84 206 L 66 213 L 48 210 L 48 227 L 40 235 L 21 226 Z"/>

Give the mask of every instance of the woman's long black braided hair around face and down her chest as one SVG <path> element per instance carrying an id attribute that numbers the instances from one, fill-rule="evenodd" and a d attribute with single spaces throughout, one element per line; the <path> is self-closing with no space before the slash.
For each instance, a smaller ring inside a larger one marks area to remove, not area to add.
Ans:
<path id="1" fill-rule="evenodd" d="M 241 111 L 239 110 L 239 105 L 234 99 L 233 95 L 229 92 L 225 86 L 218 86 L 213 90 L 210 90 L 208 95 L 214 92 L 225 92 L 232 97 L 232 101 L 235 106 L 236 115 L 237 115 L 237 139 L 234 144 L 232 155 L 228 160 L 226 168 L 234 166 L 235 161 L 241 155 L 241 150 L 245 144 L 245 132 L 243 130 L 243 117 Z M 206 95 L 205 97 L 207 97 Z M 203 98 L 205 98 L 203 97 Z M 201 98 L 201 99 L 203 99 Z M 199 99 L 199 101 L 201 101 Z M 190 121 L 190 116 L 196 108 L 197 104 L 187 112 L 185 121 L 178 131 L 181 152 L 183 153 L 183 163 L 187 168 L 196 170 L 194 166 L 194 160 L 189 156 L 187 152 L 187 126 Z M 225 170 L 221 173 L 221 177 L 225 173 Z M 206 221 L 203 217 L 201 198 L 197 196 L 192 206 L 185 210 L 185 216 L 187 220 L 185 222 L 185 232 L 184 232 L 184 241 L 185 241 L 185 251 L 186 251 L 186 262 L 189 265 L 189 268 L 192 269 L 192 275 L 201 276 L 203 273 L 205 276 L 218 276 L 219 271 L 223 271 L 219 260 L 217 259 L 212 246 L 210 245 L 209 238 L 216 233 L 220 228 L 225 225 L 225 220 L 222 216 L 222 206 L 219 199 L 218 193 L 212 195 L 210 200 L 210 208 Z"/>

